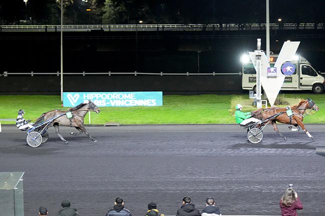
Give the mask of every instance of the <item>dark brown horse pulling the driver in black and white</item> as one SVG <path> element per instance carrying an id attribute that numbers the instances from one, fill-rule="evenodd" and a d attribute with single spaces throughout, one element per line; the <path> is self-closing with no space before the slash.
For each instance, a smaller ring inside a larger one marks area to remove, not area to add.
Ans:
<path id="1" fill-rule="evenodd" d="M 58 125 L 64 125 L 68 127 L 74 127 L 76 128 L 79 133 L 71 132 L 72 135 L 79 135 L 85 133 L 91 139 L 93 142 L 97 142 L 97 140 L 93 139 L 87 130 L 83 126 L 83 119 L 84 116 L 87 114 L 88 111 L 94 111 L 95 113 L 99 113 L 100 109 L 90 100 L 86 101 L 85 103 L 80 103 L 76 107 L 69 108 L 67 111 L 61 111 L 61 110 L 51 110 L 46 113 L 41 114 L 41 116 L 35 121 L 34 125 L 38 125 L 39 123 L 46 121 L 48 119 L 53 118 L 53 120 L 46 125 L 46 127 L 52 127 L 55 128 L 56 135 L 64 142 L 67 143 L 67 141 L 60 135 Z M 70 113 L 69 113 L 70 112 Z M 65 114 L 65 115 L 64 115 Z M 68 115 L 70 114 L 70 115 Z M 59 117 L 55 118 L 55 116 Z"/>

